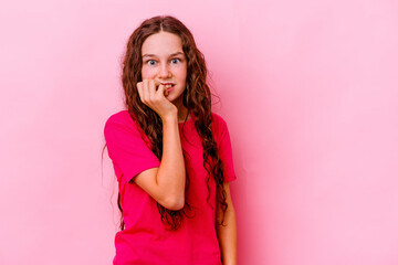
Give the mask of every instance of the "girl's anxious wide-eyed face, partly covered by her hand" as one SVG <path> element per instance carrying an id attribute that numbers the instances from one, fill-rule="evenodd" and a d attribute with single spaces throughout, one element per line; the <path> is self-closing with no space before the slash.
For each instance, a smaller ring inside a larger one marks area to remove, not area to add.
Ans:
<path id="1" fill-rule="evenodd" d="M 171 85 L 166 98 L 181 106 L 187 83 L 187 60 L 181 39 L 164 31 L 153 34 L 143 43 L 142 57 L 143 80 L 155 80 L 164 85 Z"/>

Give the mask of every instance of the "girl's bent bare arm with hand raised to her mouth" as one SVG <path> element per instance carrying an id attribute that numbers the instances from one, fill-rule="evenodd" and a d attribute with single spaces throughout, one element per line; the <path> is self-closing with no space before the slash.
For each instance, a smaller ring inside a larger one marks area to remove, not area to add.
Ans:
<path id="1" fill-rule="evenodd" d="M 137 84 L 142 102 L 154 109 L 163 121 L 163 153 L 160 166 L 145 170 L 133 181 L 159 204 L 180 210 L 185 204 L 186 169 L 178 129 L 178 109 L 166 97 L 166 86 L 155 80 Z"/>

